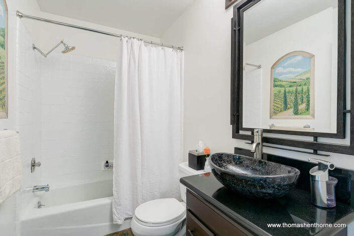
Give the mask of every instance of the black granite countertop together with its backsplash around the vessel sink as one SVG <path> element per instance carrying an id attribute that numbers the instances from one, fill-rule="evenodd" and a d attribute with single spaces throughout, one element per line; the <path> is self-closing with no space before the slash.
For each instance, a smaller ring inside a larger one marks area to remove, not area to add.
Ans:
<path id="1" fill-rule="evenodd" d="M 236 150 L 238 151 L 238 150 Z M 243 152 L 244 150 L 239 150 Z M 322 209 L 310 202 L 308 171 L 314 166 L 312 163 L 296 161 L 284 157 L 264 154 L 264 159 L 295 167 L 301 171 L 299 182 L 283 197 L 275 199 L 251 199 L 230 190 L 227 190 L 213 174 L 187 176 L 180 179 L 190 191 L 190 194 L 210 204 L 226 220 L 240 225 L 238 227 L 245 234 L 257 235 L 332 235 L 337 232 L 346 232 L 343 227 L 268 227 L 268 223 L 345 223 L 354 221 L 354 208 L 350 206 L 351 171 L 336 169 L 330 175 L 341 176 L 338 179 L 337 205 L 334 208 Z M 293 162 L 297 163 L 294 164 Z M 341 187 L 342 186 L 342 187 Z M 343 186 L 349 186 L 345 191 Z M 187 209 L 189 202 L 187 198 Z M 195 216 L 198 215 L 193 212 Z M 201 218 L 199 218 L 203 224 Z M 205 225 L 208 227 L 209 225 Z M 209 229 L 212 229 L 208 227 Z M 188 229 L 188 223 L 187 223 Z M 245 230 L 245 231 L 244 231 Z"/>

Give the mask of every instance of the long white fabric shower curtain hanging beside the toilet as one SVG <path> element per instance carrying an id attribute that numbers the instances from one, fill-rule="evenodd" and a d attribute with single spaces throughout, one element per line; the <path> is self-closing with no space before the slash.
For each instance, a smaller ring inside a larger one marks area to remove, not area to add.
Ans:
<path id="1" fill-rule="evenodd" d="M 183 52 L 119 40 L 115 75 L 113 221 L 146 201 L 180 197 Z"/>

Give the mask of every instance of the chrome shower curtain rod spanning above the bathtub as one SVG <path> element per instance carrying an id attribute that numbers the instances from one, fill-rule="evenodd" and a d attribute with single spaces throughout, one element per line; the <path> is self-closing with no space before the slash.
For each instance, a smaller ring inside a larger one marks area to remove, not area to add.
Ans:
<path id="1" fill-rule="evenodd" d="M 114 37 L 119 37 L 119 38 L 124 37 L 124 35 L 118 35 L 118 34 L 113 34 L 113 33 L 105 32 L 105 31 L 86 28 L 86 27 L 82 27 L 82 26 L 71 25 L 71 24 L 67 24 L 67 23 L 63 23 L 63 22 L 59 22 L 59 21 L 52 21 L 52 20 L 45 19 L 45 18 L 29 16 L 29 15 L 25 15 L 25 14 L 21 13 L 20 11 L 16 11 L 16 16 L 18 16 L 19 18 L 27 18 L 27 19 L 37 20 L 37 21 L 43 21 L 43 22 L 47 22 L 47 23 L 52 23 L 52 24 L 61 25 L 61 26 L 68 26 L 68 27 L 72 27 L 72 28 L 76 28 L 76 29 L 80 29 L 80 30 L 87 30 L 87 31 L 91 31 L 91 32 L 99 33 L 99 34 L 104 34 L 104 35 L 109 35 L 109 36 L 114 36 Z M 134 39 L 135 37 L 127 36 L 127 38 Z M 159 45 L 159 46 L 166 47 L 166 48 L 177 49 L 180 51 L 183 51 L 183 49 L 184 49 L 183 47 L 174 47 L 172 45 L 165 45 L 163 43 L 155 43 L 153 41 L 146 41 L 143 39 L 138 39 L 138 40 L 141 40 L 144 43 L 150 43 L 150 44 Z"/>

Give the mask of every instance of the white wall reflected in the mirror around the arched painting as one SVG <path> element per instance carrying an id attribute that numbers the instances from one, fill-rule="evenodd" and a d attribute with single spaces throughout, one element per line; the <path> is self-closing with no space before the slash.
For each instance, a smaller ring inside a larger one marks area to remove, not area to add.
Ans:
<path id="1" fill-rule="evenodd" d="M 251 83 L 262 83 L 262 86 L 256 90 L 254 84 L 250 84 L 248 91 L 244 86 L 244 96 L 246 94 L 252 97 L 261 96 L 262 104 L 261 109 L 253 109 L 253 104 L 247 104 L 244 101 L 244 127 L 269 129 L 270 124 L 298 128 L 310 125 L 315 132 L 336 132 L 337 13 L 337 8 L 328 8 L 256 42 L 245 45 L 244 64 L 248 62 L 262 65 L 260 69 L 262 77 L 259 77 L 258 81 L 251 81 Z M 247 20 L 250 19 L 245 19 L 245 21 Z M 306 51 L 315 55 L 314 119 L 270 119 L 271 67 L 279 58 L 293 51 Z M 246 68 L 247 71 L 253 69 L 250 66 Z M 248 80 L 249 78 L 244 76 L 244 85 L 247 85 Z M 249 109 L 246 109 L 247 107 Z M 262 117 L 261 126 L 257 126 L 252 119 L 245 120 L 245 117 L 252 116 Z"/>

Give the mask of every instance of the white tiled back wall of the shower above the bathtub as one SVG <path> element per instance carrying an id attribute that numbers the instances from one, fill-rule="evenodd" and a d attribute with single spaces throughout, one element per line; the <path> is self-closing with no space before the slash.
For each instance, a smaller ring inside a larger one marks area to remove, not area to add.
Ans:
<path id="1" fill-rule="evenodd" d="M 42 181 L 57 188 L 111 179 L 102 169 L 113 161 L 116 62 L 61 53 L 42 62 Z"/>

